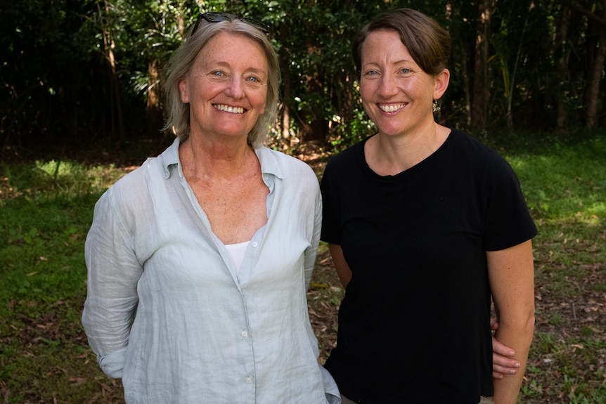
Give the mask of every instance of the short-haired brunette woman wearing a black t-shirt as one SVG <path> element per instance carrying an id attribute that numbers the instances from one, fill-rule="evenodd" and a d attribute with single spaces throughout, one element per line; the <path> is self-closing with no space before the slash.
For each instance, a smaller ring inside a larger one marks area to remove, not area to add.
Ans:
<path id="1" fill-rule="evenodd" d="M 353 42 L 378 133 L 328 162 L 322 239 L 347 291 L 325 366 L 345 403 L 514 404 L 534 329 L 531 221 L 509 164 L 432 110 L 449 34 L 409 9 Z M 496 337 L 520 371 L 491 379 Z"/>

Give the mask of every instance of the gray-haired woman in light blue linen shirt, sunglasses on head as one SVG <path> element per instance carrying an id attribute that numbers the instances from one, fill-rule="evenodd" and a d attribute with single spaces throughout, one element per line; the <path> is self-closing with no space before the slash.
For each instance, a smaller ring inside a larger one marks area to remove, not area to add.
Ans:
<path id="1" fill-rule="evenodd" d="M 82 322 L 127 403 L 338 403 L 307 314 L 321 197 L 262 147 L 278 61 L 259 22 L 205 13 L 167 78 L 177 135 L 97 202 Z"/>

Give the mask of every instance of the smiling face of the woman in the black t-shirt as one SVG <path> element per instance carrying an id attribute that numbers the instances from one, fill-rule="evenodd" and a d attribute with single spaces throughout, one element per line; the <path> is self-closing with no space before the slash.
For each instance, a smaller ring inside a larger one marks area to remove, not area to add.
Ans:
<path id="1" fill-rule="evenodd" d="M 362 104 L 380 133 L 404 135 L 434 124 L 432 102 L 448 78 L 448 70 L 437 77 L 424 72 L 393 30 L 370 32 L 361 46 Z"/>

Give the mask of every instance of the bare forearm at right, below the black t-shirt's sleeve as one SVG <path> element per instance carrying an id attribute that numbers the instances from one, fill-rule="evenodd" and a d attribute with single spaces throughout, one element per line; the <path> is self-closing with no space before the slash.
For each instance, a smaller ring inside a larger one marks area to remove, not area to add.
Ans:
<path id="1" fill-rule="evenodd" d="M 486 252 L 491 293 L 498 316 L 495 337 L 515 351 L 520 369 L 494 380 L 494 403 L 515 404 L 534 333 L 534 263 L 531 240 Z"/>

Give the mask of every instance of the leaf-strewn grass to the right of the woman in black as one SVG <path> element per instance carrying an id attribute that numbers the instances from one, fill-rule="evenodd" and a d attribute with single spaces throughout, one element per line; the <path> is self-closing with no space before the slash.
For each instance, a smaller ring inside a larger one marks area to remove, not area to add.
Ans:
<path id="1" fill-rule="evenodd" d="M 537 325 L 519 403 L 606 403 L 606 136 L 503 153 L 539 228 Z"/>

